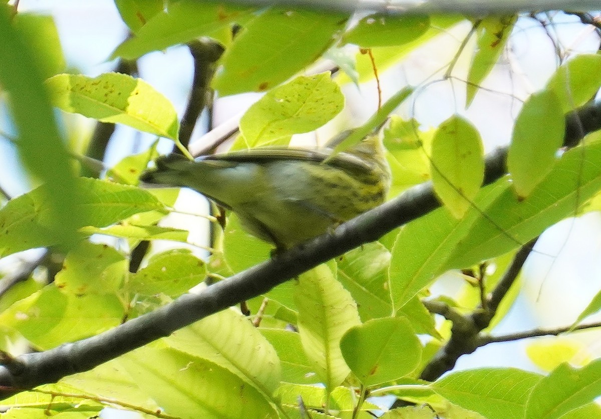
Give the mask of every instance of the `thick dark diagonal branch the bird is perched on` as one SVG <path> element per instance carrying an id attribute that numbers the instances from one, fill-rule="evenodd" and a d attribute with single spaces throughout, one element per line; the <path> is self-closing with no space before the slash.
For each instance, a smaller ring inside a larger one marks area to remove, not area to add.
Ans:
<path id="1" fill-rule="evenodd" d="M 601 108 L 601 104 L 597 106 Z M 506 148 L 499 148 L 487 156 L 486 183 L 504 175 L 506 153 Z M 282 252 L 198 294 L 183 295 L 171 304 L 99 335 L 62 344 L 45 352 L 19 356 L 0 367 L 0 395 L 7 397 L 40 384 L 58 381 L 67 375 L 90 370 L 239 301 L 266 293 L 276 285 L 353 248 L 373 242 L 439 206 L 432 183 L 417 185 L 399 197 L 341 224 L 331 233 Z"/>

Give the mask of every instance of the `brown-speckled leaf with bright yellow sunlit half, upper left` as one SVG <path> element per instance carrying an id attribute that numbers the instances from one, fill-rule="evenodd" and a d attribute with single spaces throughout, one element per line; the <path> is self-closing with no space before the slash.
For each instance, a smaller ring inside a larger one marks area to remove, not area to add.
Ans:
<path id="1" fill-rule="evenodd" d="M 63 111 L 177 141 L 179 123 L 173 105 L 142 79 L 121 73 L 96 78 L 59 74 L 49 78 L 46 86 L 54 105 Z"/>

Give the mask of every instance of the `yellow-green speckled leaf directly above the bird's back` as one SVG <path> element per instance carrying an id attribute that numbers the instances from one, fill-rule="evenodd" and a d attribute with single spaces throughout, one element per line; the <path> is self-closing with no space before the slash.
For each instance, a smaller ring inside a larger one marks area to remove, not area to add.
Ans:
<path id="1" fill-rule="evenodd" d="M 293 134 L 316 130 L 344 108 L 330 73 L 299 76 L 270 90 L 240 120 L 246 147 L 288 145 Z"/>

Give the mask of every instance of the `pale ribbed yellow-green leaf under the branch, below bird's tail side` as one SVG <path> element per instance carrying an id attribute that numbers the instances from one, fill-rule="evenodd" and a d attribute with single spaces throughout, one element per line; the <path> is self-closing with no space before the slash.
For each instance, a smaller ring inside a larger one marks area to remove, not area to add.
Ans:
<path id="1" fill-rule="evenodd" d="M 246 317 L 231 310 L 206 317 L 163 341 L 169 347 L 221 365 L 266 396 L 271 396 L 281 380 L 273 346 Z"/>

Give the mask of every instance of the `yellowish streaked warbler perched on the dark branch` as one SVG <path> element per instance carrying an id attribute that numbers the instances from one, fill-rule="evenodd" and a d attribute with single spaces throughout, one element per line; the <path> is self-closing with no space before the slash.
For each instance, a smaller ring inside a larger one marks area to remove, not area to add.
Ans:
<path id="1" fill-rule="evenodd" d="M 332 156 L 328 147 L 257 147 L 201 156 L 171 154 L 142 182 L 185 186 L 235 212 L 254 236 L 290 248 L 383 203 L 390 170 L 380 136 Z"/>

